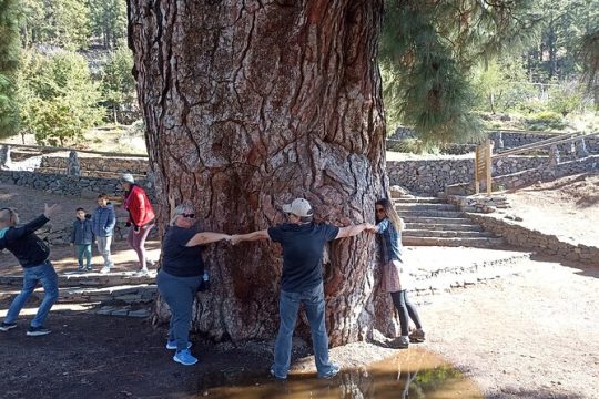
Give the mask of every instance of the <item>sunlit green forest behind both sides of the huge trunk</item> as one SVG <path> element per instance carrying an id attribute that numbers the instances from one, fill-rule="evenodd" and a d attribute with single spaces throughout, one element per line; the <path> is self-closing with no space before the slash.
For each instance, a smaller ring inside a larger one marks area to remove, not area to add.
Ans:
<path id="1" fill-rule="evenodd" d="M 481 22 L 447 22 L 450 1 L 433 3 L 417 14 L 386 3 L 378 63 L 387 132 L 416 133 L 399 150 L 476 142 L 487 129 L 598 130 L 599 0 L 522 1 L 501 42 L 485 41 Z M 0 137 L 145 153 L 126 2 L 0 0 Z M 436 76 L 427 62 L 441 65 Z M 445 90 L 437 109 L 418 98 L 435 80 Z"/>

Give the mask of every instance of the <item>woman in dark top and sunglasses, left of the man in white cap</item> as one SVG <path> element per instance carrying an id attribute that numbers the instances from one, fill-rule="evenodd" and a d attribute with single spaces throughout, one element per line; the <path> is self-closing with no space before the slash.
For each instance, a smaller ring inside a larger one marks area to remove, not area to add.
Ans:
<path id="1" fill-rule="evenodd" d="M 162 268 L 156 276 L 160 294 L 171 309 L 167 349 L 176 349 L 173 360 L 185 366 L 197 362 L 191 355 L 189 328 L 195 293 L 202 283 L 202 245 L 230 239 L 221 233 L 197 232 L 193 207 L 179 205 L 162 242 Z"/>

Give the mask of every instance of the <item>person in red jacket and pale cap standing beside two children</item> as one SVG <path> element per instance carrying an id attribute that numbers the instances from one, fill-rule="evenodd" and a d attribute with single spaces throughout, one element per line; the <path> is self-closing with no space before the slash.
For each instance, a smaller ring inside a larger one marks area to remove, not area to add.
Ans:
<path id="1" fill-rule="evenodd" d="M 124 208 L 129 212 L 128 242 L 131 248 L 138 254 L 140 260 L 140 273 L 148 274 L 148 259 L 145 254 L 145 239 L 150 231 L 154 227 L 154 208 L 148 198 L 145 191 L 135 184 L 131 173 L 121 176 L 121 184 L 125 192 Z"/>

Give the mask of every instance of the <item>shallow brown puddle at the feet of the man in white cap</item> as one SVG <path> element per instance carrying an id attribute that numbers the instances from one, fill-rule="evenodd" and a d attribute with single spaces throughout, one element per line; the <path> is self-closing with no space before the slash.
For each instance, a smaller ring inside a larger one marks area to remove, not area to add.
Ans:
<path id="1" fill-rule="evenodd" d="M 225 370 L 203 376 L 196 382 L 196 398 L 483 398 L 473 381 L 439 356 L 419 348 L 403 350 L 367 367 L 344 368 L 329 380 L 292 371 L 286 381 L 280 381 L 264 374 Z"/>

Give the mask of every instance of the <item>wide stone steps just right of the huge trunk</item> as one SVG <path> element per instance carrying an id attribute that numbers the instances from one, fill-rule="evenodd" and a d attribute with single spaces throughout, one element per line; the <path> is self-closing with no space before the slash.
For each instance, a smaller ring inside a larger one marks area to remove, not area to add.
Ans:
<path id="1" fill-rule="evenodd" d="M 393 200 L 406 223 L 402 242 L 408 246 L 467 246 L 497 248 L 504 238 L 471 222 L 457 206 L 443 198 L 404 196 Z"/>

